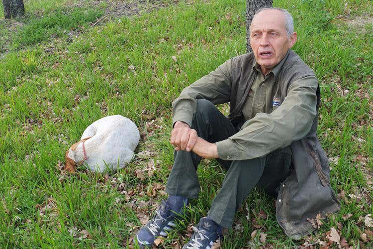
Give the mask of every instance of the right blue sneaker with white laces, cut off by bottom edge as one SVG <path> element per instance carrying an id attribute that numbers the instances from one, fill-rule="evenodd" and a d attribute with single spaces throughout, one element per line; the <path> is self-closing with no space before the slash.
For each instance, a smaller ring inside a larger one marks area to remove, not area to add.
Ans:
<path id="1" fill-rule="evenodd" d="M 192 227 L 194 234 L 183 249 L 211 249 L 214 243 L 222 238 L 222 229 L 213 220 L 203 217 L 199 220 L 198 228 Z"/>

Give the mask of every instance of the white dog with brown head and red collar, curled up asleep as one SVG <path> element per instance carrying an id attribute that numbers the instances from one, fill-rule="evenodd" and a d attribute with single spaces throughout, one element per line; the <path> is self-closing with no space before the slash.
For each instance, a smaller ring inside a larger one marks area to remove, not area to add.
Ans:
<path id="1" fill-rule="evenodd" d="M 140 133 L 136 124 L 120 115 L 99 119 L 86 128 L 81 140 L 66 151 L 65 170 L 84 162 L 92 171 L 123 168 L 134 155 Z"/>

